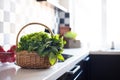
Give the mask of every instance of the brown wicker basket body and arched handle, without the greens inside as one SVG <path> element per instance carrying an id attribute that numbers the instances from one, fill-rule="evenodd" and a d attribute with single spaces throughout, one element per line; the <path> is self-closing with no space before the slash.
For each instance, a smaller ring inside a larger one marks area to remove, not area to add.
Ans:
<path id="1" fill-rule="evenodd" d="M 41 23 L 29 23 L 23 26 L 18 32 L 18 35 L 16 38 L 16 46 L 18 45 L 18 37 L 21 31 L 24 28 L 28 27 L 29 25 L 33 25 L 33 24 L 44 26 L 51 33 L 51 36 L 53 36 L 52 31 L 46 25 L 41 24 Z M 28 52 L 28 51 L 16 52 L 16 64 L 22 68 L 35 68 L 35 69 L 36 68 L 49 68 L 51 66 L 49 63 L 48 57 L 41 57 L 35 52 Z"/>

